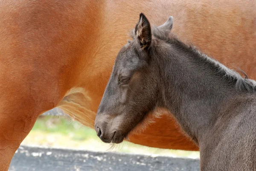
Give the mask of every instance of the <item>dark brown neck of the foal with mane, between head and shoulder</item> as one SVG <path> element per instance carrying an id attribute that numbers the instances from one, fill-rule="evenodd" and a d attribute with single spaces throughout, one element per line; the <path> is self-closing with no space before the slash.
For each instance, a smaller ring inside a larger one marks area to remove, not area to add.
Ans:
<path id="1" fill-rule="evenodd" d="M 177 40 L 157 47 L 163 104 L 196 143 L 237 97 L 256 90 L 255 81 Z"/>

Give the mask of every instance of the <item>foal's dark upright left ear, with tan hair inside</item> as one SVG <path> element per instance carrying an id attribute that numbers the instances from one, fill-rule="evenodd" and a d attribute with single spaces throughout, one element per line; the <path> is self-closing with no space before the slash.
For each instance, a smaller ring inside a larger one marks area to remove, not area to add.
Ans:
<path id="1" fill-rule="evenodd" d="M 140 13 L 140 20 L 135 27 L 135 34 L 140 42 L 141 49 L 148 48 L 151 43 L 151 28 L 148 19 Z"/>

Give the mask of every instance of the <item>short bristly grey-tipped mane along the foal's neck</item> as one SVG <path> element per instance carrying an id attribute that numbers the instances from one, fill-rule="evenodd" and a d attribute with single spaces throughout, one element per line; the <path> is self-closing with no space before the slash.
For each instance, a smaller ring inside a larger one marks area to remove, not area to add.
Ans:
<path id="1" fill-rule="evenodd" d="M 199 59 L 201 62 L 204 62 L 209 67 L 212 68 L 213 71 L 216 72 L 221 78 L 224 78 L 228 83 L 235 85 L 238 90 L 247 91 L 247 92 L 256 92 L 256 81 L 252 79 L 248 79 L 247 74 L 241 70 L 241 72 L 245 75 L 243 78 L 238 72 L 235 70 L 231 70 L 228 67 L 224 66 L 220 62 L 215 59 L 205 55 L 200 52 L 197 47 L 193 46 L 192 43 L 186 45 L 182 41 L 180 41 L 176 35 L 170 33 L 168 36 L 163 34 L 162 31 L 157 29 L 157 27 L 153 28 L 153 37 L 157 38 L 161 41 L 165 41 L 166 43 L 172 44 L 179 49 L 182 49 L 185 52 L 192 53 L 193 56 Z M 131 38 L 136 38 L 134 31 L 130 34 Z"/>

